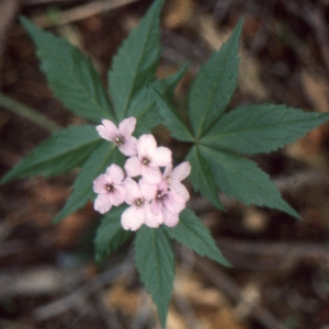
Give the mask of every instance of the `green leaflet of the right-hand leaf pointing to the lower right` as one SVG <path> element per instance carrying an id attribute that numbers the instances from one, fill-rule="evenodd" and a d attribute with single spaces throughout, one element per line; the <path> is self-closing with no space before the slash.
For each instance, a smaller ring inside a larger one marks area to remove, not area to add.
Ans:
<path id="1" fill-rule="evenodd" d="M 200 147 L 200 151 L 209 163 L 218 189 L 227 196 L 247 205 L 277 208 L 299 218 L 298 213 L 282 198 L 269 175 L 253 161 L 208 147 Z"/>

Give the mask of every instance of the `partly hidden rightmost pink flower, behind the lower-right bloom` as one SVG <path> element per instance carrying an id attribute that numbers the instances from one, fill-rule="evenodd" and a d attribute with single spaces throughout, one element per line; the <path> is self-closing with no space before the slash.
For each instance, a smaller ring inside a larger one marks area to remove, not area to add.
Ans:
<path id="1" fill-rule="evenodd" d="M 185 197 L 185 201 L 190 198 L 190 193 L 186 188 L 181 183 L 191 172 L 191 164 L 189 161 L 184 161 L 177 166 L 172 170 L 172 164 L 166 167 L 163 172 L 163 179 L 167 181 L 169 189 L 178 192 Z"/>

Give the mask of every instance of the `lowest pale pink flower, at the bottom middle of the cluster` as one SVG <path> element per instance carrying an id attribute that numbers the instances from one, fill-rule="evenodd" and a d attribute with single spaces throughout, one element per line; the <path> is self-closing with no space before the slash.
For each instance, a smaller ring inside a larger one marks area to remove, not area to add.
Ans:
<path id="1" fill-rule="evenodd" d="M 125 179 L 124 185 L 126 189 L 126 203 L 131 206 L 121 216 L 123 228 L 137 230 L 143 224 L 149 227 L 159 227 L 162 224 L 162 216 L 152 214 L 149 203 L 157 186 L 145 183 L 143 179 L 137 184 L 129 177 Z"/>

